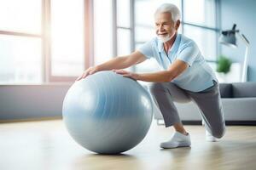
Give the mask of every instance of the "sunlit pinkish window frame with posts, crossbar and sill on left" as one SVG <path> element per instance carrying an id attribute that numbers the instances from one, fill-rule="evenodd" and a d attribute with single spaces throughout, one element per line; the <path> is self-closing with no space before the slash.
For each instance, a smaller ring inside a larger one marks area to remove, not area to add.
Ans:
<path id="1" fill-rule="evenodd" d="M 42 79 L 40 84 L 52 82 L 73 82 L 77 77 L 61 77 L 51 74 L 51 43 L 50 43 L 50 2 L 51 0 L 41 0 L 41 32 L 39 34 L 26 31 L 6 31 L 0 30 L 0 35 L 17 37 L 37 37 L 41 39 L 41 71 Z M 84 0 L 84 68 L 93 64 L 93 13 L 92 0 Z M 12 84 L 12 83 L 11 83 Z M 14 83 L 17 84 L 17 83 Z M 19 82 L 18 82 L 19 84 Z M 30 83 L 29 83 L 30 84 Z M 33 83 L 31 83 L 33 84 Z"/>

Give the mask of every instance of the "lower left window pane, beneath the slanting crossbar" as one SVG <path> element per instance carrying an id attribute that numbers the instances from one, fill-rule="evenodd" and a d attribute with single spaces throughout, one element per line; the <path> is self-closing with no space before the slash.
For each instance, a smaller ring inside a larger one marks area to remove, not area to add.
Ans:
<path id="1" fill-rule="evenodd" d="M 0 34 L 0 82 L 42 82 L 41 38 Z"/>

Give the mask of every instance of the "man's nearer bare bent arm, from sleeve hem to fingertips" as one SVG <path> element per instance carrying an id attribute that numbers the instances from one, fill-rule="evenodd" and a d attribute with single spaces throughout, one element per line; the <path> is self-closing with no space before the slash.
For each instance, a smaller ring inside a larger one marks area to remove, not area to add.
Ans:
<path id="1" fill-rule="evenodd" d="M 183 60 L 177 59 L 172 65 L 169 66 L 167 71 L 141 74 L 124 70 L 115 70 L 115 72 L 123 75 L 124 77 L 131 77 L 133 79 L 141 80 L 144 82 L 171 82 L 175 77 L 185 71 L 188 66 L 189 65 Z"/>

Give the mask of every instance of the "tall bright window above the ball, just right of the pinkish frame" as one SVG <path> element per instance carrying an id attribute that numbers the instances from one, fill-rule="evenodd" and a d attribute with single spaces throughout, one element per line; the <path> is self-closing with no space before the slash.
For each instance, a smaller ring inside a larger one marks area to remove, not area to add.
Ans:
<path id="1" fill-rule="evenodd" d="M 131 0 L 94 1 L 94 64 L 131 54 Z"/>

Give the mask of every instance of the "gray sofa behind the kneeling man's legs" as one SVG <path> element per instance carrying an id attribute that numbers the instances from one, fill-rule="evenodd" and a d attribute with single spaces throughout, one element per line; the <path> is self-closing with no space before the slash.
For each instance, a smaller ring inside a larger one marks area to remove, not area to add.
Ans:
<path id="1" fill-rule="evenodd" d="M 256 125 L 256 82 L 220 83 L 226 124 Z M 201 113 L 193 102 L 175 103 L 181 120 L 185 124 L 201 123 Z M 163 117 L 154 105 L 154 119 L 159 124 Z"/>

